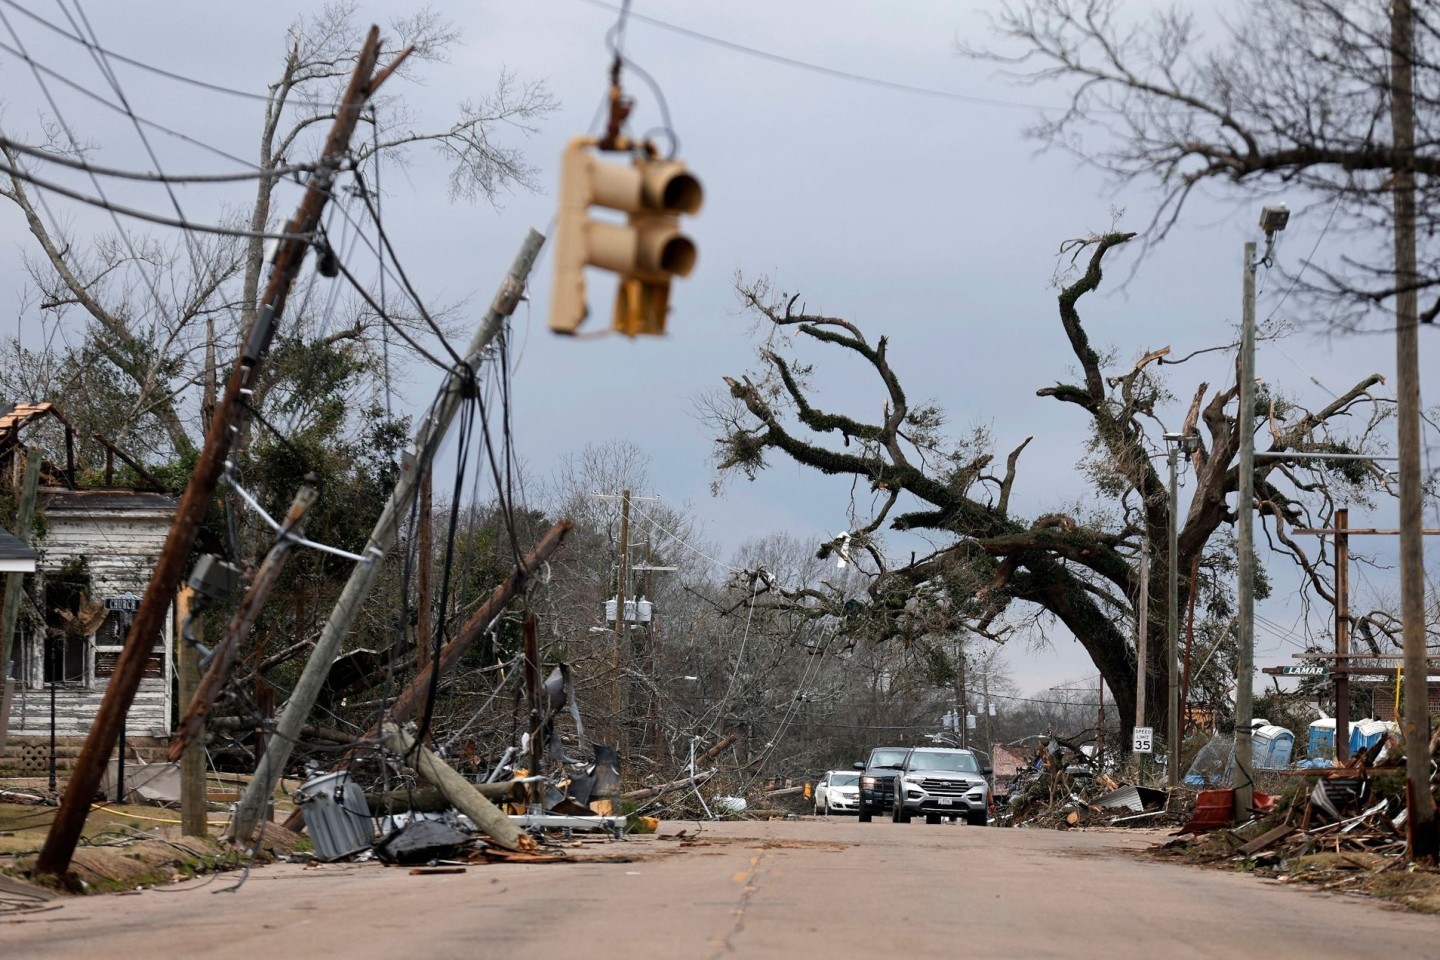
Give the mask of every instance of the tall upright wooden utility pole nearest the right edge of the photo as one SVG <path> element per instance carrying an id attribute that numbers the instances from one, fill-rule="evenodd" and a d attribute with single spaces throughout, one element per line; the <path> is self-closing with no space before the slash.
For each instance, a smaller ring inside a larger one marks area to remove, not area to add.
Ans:
<path id="1" fill-rule="evenodd" d="M 1426 661 L 1426 558 L 1420 486 L 1420 335 L 1416 273 L 1414 10 L 1390 7 L 1390 125 L 1398 164 L 1395 194 L 1395 402 L 1400 445 L 1400 619 L 1404 636 L 1405 839 L 1411 861 L 1440 856 L 1440 828 L 1430 793 L 1430 701 Z M 1335 731 L 1339 735 L 1339 730 Z"/>

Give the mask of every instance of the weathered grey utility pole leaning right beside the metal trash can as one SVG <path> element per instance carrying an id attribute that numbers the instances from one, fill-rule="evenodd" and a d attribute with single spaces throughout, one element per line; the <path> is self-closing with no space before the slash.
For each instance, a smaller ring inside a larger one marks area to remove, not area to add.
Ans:
<path id="1" fill-rule="evenodd" d="M 384 554 L 395 545 L 400 521 L 409 512 L 410 501 L 416 497 L 419 479 L 431 469 L 431 463 L 435 459 L 435 449 L 439 446 L 441 439 L 444 439 L 451 420 L 455 419 L 455 412 L 459 409 L 461 402 L 467 396 L 471 396 L 475 371 L 480 368 L 485 348 L 504 328 L 505 318 L 520 304 L 520 298 L 526 289 L 526 278 L 530 275 L 530 268 L 534 265 L 543 243 L 544 236 L 536 230 L 530 230 L 530 235 L 520 246 L 520 253 L 516 255 L 516 262 L 511 265 L 510 273 L 500 285 L 500 291 L 490 305 L 490 312 L 485 314 L 485 320 L 480 324 L 480 330 L 475 331 L 469 347 L 465 350 L 465 361 L 451 370 L 445 381 L 445 389 L 425 419 L 420 420 L 420 426 L 416 429 L 415 440 L 412 442 L 413 455 L 406 458 L 409 462 L 405 463 L 400 479 L 396 482 L 395 489 L 390 491 L 390 499 L 384 504 L 384 510 L 380 511 L 380 518 L 374 522 L 374 530 L 370 531 L 370 540 L 360 554 L 361 560 L 350 571 L 350 579 L 346 581 L 340 599 L 336 600 L 336 606 L 330 612 L 330 619 L 325 622 L 320 639 L 315 640 L 315 649 L 311 651 L 310 659 L 305 661 L 305 669 L 295 682 L 295 689 L 281 708 L 269 748 L 261 757 L 259 764 L 256 764 L 255 776 L 245 787 L 245 793 L 235 809 L 232 830 L 236 841 L 249 841 L 255 825 L 259 822 L 261 812 L 269 803 L 271 794 L 275 792 L 275 784 L 279 782 L 279 776 L 289 761 L 291 750 L 298 743 L 301 727 L 305 725 L 305 718 L 315 705 L 320 688 L 324 685 L 330 674 L 330 666 L 340 652 L 340 643 L 350 633 L 350 628 L 360 613 L 360 604 L 380 574 L 380 564 L 384 560 Z"/>

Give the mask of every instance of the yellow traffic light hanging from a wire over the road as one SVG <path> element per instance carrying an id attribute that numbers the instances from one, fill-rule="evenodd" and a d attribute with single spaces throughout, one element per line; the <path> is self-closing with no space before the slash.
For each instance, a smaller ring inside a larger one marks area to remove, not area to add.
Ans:
<path id="1" fill-rule="evenodd" d="M 696 243 L 680 232 L 681 214 L 700 210 L 704 193 L 683 163 L 636 154 L 605 163 L 577 137 L 560 164 L 560 212 L 554 243 L 550 330 L 573 334 L 585 322 L 585 268 L 619 276 L 613 328 L 629 337 L 665 332 L 670 281 L 696 266 Z M 625 214 L 592 219 L 590 207 Z"/>

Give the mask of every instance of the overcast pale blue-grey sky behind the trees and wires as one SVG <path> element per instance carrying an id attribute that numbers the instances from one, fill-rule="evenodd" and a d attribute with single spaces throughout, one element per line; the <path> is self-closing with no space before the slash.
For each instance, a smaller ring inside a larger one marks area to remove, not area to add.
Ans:
<path id="1" fill-rule="evenodd" d="M 37 60 L 102 89 L 82 50 L 26 22 L 9 3 L 0 4 L 6 16 L 0 39 L 13 45 L 13 27 Z M 26 0 L 22 6 L 62 16 L 53 3 Z M 317 6 L 131 0 L 91 1 L 84 10 L 101 43 L 115 52 L 186 76 L 262 91 L 282 60 L 285 26 L 297 10 Z M 445 196 L 445 167 L 428 153 L 416 153 L 403 171 L 386 173 L 386 226 L 422 295 L 432 302 L 472 296 L 478 315 L 526 230 L 544 232 L 553 217 L 560 150 L 590 130 L 606 89 L 605 33 L 615 13 L 589 0 L 433 6 L 455 20 L 464 42 L 449 63 L 426 66 L 419 83 L 396 83 L 392 91 L 403 92 L 418 125 L 448 124 L 455 104 L 487 94 L 503 68 L 520 79 L 544 79 L 562 102 L 533 137 L 500 134 L 539 167 L 536 194 L 505 196 L 498 207 L 452 203 Z M 383 19 L 390 7 L 360 4 L 357 23 Z M 847 317 L 871 335 L 887 334 L 891 361 L 912 399 L 939 402 L 955 430 L 986 426 L 1002 452 L 1034 436 L 1015 489 L 1018 512 L 1040 514 L 1083 494 L 1073 465 L 1084 425 L 1076 412 L 1034 396 L 1070 374 L 1050 285 L 1057 249 L 1064 239 L 1109 229 L 1117 207 L 1126 212 L 1120 226 L 1142 229 L 1156 196 L 1143 189 L 1119 193 L 1070 157 L 1037 155 L 1021 131 L 1038 108 L 1060 102 L 1058 92 L 1018 86 L 956 52 L 959 40 L 986 40 L 982 12 L 991 7 L 984 0 L 635 1 L 635 13 L 726 42 L 975 99 L 857 83 L 632 19 L 626 53 L 662 88 L 680 157 L 704 183 L 704 210 L 690 225 L 700 265 L 672 288 L 668 337 L 566 340 L 546 331 L 550 261 L 541 261 L 531 305 L 517 315 L 516 438 L 531 471 L 547 474 L 562 455 L 585 443 L 632 440 L 652 458 L 655 488 L 644 492 L 688 504 L 721 557 L 776 530 L 816 543 L 842 530 L 848 485 L 779 458 L 759 481 L 733 481 L 723 497 L 710 495 L 711 440 L 694 419 L 693 402 L 717 387 L 721 376 L 749 367 L 749 320 L 733 292 L 736 273 L 743 273 L 770 276 L 779 288 L 802 292 L 811 311 Z M 253 155 L 258 102 L 128 68 L 118 68 L 118 75 L 141 115 L 240 157 Z M 634 128 L 658 127 L 654 94 L 634 75 L 626 76 L 626 88 L 636 98 Z M 49 108 L 29 68 L 6 53 L 0 53 L 0 91 L 6 132 L 36 137 Z M 58 85 L 53 91 L 65 118 L 101 145 L 96 163 L 148 166 L 127 121 Z M 171 171 L 232 168 L 171 137 L 156 135 L 153 142 Z M 248 191 L 186 191 L 181 200 L 199 217 L 220 201 L 243 206 Z M 167 209 L 161 194 L 145 197 L 148 209 Z M 1323 236 L 1325 212 L 1308 210 L 1303 197 L 1286 199 L 1297 213 L 1277 261 L 1293 268 L 1318 242 L 1318 258 L 1339 255 Z M 1261 203 L 1202 197 L 1123 289 L 1119 281 L 1133 253 L 1116 258 L 1115 282 L 1086 302 L 1093 340 L 1122 358 L 1162 345 L 1182 356 L 1228 341 L 1240 312 L 1241 246 L 1260 239 L 1254 225 Z M 79 204 L 52 200 L 52 206 L 81 232 L 108 227 Z M 29 243 L 19 213 L 0 207 L 0 302 L 20 302 L 20 255 Z M 1261 317 L 1280 304 L 1283 292 L 1279 276 L 1266 278 Z M 603 324 L 608 299 L 608 288 L 595 278 L 590 301 L 600 317 L 592 325 Z M 1391 376 L 1390 337 L 1332 340 L 1313 318 L 1296 320 L 1309 324 L 1308 332 L 1263 347 L 1257 367 L 1303 403 L 1322 403 L 1372 371 Z M 33 332 L 33 315 L 17 322 L 22 335 Z M 1427 334 L 1423 350 L 1433 344 Z M 1433 402 L 1434 364 L 1423 363 Z M 1187 366 L 1172 374 L 1174 390 L 1188 399 L 1200 380 L 1224 383 L 1231 364 L 1231 356 L 1214 354 Z M 410 409 L 418 410 L 429 396 L 428 377 L 418 373 L 412 381 Z M 819 383 L 822 402 L 832 407 L 865 416 L 880 407 L 858 368 L 835 367 Z M 1178 425 L 1181 415 L 1176 407 L 1164 416 Z M 1434 439 L 1427 435 L 1431 448 Z M 1351 522 L 1394 525 L 1394 510 L 1352 514 Z M 1427 522 L 1440 525 L 1433 512 Z M 1428 556 L 1434 557 L 1434 548 Z M 1387 570 L 1368 570 L 1356 586 L 1392 590 L 1387 577 L 1392 580 Z M 1297 615 L 1283 604 L 1266 609 L 1269 625 L 1257 628 L 1259 664 L 1289 662 L 1280 626 Z M 1056 643 L 1051 655 L 1011 653 L 1022 688 L 1092 672 L 1079 645 Z"/>

